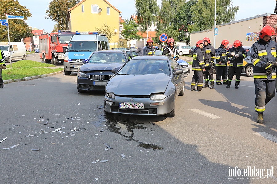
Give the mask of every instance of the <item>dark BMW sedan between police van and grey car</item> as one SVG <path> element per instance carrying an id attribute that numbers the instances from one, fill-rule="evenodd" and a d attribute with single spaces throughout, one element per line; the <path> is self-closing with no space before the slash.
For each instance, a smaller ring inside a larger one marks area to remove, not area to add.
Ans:
<path id="1" fill-rule="evenodd" d="M 121 50 L 101 50 L 94 52 L 77 72 L 77 90 L 105 91 L 105 85 L 114 76 L 112 69 L 120 69 L 128 60 Z"/>

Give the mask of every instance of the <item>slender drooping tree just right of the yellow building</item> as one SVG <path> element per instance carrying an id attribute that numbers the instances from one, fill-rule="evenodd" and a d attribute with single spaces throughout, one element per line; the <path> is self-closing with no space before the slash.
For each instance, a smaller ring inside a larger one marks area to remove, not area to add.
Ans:
<path id="1" fill-rule="evenodd" d="M 157 0 L 135 0 L 137 21 L 142 32 L 146 32 L 156 22 L 156 14 L 159 11 Z"/>

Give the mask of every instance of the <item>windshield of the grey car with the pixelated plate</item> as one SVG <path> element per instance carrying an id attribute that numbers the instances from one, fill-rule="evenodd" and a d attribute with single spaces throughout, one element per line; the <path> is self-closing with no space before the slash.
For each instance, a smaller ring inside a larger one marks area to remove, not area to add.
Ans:
<path id="1" fill-rule="evenodd" d="M 118 75 L 146 75 L 158 73 L 170 75 L 167 60 L 131 59 L 121 68 Z"/>

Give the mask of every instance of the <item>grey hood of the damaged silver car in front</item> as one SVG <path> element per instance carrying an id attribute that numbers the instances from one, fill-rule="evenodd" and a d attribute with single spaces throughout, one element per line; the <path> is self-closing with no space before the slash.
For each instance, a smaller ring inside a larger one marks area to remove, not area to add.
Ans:
<path id="1" fill-rule="evenodd" d="M 115 75 L 106 86 L 116 95 L 150 95 L 164 93 L 171 76 L 166 74 Z"/>

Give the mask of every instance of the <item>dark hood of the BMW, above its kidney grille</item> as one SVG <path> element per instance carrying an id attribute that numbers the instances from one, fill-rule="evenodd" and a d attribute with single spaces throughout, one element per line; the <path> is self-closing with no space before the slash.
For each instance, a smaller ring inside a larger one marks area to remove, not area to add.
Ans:
<path id="1" fill-rule="evenodd" d="M 122 67 L 123 63 L 85 63 L 81 66 L 81 71 L 91 71 L 91 70 L 109 70 L 119 69 Z"/>

